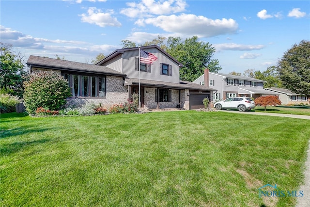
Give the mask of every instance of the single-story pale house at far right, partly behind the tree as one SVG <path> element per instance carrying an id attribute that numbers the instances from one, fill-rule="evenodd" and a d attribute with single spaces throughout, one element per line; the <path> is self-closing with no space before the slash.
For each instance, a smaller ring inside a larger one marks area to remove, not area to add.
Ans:
<path id="1" fill-rule="evenodd" d="M 287 104 L 309 104 L 307 96 L 296 94 L 288 89 L 284 88 L 265 88 L 267 91 L 273 91 L 279 94 L 279 99 L 283 105 Z"/>

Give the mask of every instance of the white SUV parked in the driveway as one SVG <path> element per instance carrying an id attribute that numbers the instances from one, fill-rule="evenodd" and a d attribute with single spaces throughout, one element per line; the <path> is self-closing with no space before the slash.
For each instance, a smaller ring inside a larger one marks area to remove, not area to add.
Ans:
<path id="1" fill-rule="evenodd" d="M 214 104 L 217 110 L 238 109 L 238 111 L 250 111 L 255 108 L 255 103 L 247 97 L 231 97 Z"/>

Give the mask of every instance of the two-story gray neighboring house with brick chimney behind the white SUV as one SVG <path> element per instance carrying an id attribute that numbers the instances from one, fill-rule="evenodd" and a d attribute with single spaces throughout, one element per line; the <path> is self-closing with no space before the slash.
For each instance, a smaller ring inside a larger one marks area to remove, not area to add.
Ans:
<path id="1" fill-rule="evenodd" d="M 259 96 L 279 95 L 277 92 L 264 90 L 264 82 L 266 81 L 245 76 L 213 73 L 209 72 L 209 69 L 205 69 L 204 74 L 194 81 L 194 83 L 216 89 L 217 92 L 213 93 L 214 100 L 224 100 L 237 96 L 257 98 Z"/>

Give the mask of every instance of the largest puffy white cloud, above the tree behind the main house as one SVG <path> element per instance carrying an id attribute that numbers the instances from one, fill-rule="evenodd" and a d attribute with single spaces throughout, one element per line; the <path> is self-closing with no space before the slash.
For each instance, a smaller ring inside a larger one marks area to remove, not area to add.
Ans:
<path id="1" fill-rule="evenodd" d="M 137 21 L 136 24 L 152 24 L 166 32 L 173 32 L 179 36 L 213 37 L 220 34 L 234 33 L 238 24 L 233 19 L 209 19 L 204 16 L 181 14 L 179 16 L 157 16 L 155 18 Z"/>

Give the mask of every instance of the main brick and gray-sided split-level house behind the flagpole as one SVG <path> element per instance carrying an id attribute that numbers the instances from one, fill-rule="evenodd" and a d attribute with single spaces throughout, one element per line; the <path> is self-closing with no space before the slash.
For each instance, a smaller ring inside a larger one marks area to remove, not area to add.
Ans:
<path id="1" fill-rule="evenodd" d="M 183 65 L 158 46 L 141 47 L 158 59 L 153 64 L 140 63 L 139 48 L 117 49 L 97 64 L 30 56 L 27 65 L 34 70 L 54 70 L 69 81 L 69 104 L 101 103 L 104 107 L 121 104 L 139 93 L 143 109 L 203 107 L 202 99 L 211 98 L 215 89 L 179 80 Z M 140 85 L 140 87 L 139 87 Z"/>

